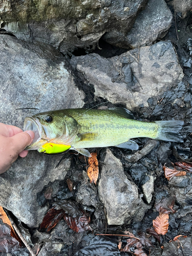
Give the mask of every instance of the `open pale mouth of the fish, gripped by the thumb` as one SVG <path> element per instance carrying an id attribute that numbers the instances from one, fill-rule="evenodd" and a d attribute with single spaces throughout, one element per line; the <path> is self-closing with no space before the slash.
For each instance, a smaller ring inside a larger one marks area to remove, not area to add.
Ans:
<path id="1" fill-rule="evenodd" d="M 47 143 L 46 139 L 46 133 L 40 124 L 39 120 L 37 118 L 33 119 L 30 117 L 26 117 L 24 121 L 24 131 L 33 131 L 35 134 L 35 137 L 31 143 L 31 145 L 27 146 L 25 150 L 38 150 L 38 148 Z"/>

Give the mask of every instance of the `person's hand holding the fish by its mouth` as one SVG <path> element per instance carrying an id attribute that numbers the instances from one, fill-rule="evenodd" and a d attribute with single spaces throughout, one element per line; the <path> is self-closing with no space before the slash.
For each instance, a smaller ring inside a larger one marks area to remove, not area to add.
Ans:
<path id="1" fill-rule="evenodd" d="M 0 174 L 6 172 L 11 164 L 20 157 L 26 157 L 24 151 L 34 139 L 32 131 L 23 132 L 16 126 L 0 123 Z"/>

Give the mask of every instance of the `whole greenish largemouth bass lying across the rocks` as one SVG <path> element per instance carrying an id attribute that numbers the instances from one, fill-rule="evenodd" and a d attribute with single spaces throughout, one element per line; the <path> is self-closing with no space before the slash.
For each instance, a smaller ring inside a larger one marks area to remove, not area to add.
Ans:
<path id="1" fill-rule="evenodd" d="M 51 144 L 54 153 L 69 149 L 88 157 L 91 154 L 86 148 L 92 147 L 138 150 L 138 144 L 132 140 L 138 137 L 183 142 L 179 133 L 182 126 L 181 120 L 135 120 L 133 114 L 124 108 L 63 109 L 39 113 L 24 120 L 24 131 L 31 130 L 35 134 L 26 150 L 46 153 L 47 148 L 49 153 Z"/>

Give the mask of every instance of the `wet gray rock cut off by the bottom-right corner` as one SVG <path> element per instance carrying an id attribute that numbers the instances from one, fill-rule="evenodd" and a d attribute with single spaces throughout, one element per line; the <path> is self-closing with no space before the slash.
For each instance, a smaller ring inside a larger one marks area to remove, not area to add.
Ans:
<path id="1" fill-rule="evenodd" d="M 192 238 L 179 238 L 178 241 L 164 243 L 162 256 L 191 256 L 192 255 Z"/>

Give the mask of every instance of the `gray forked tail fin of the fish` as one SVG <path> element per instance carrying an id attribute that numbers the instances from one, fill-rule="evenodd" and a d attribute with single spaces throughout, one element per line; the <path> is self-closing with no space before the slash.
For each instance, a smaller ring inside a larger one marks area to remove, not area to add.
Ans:
<path id="1" fill-rule="evenodd" d="M 159 125 L 157 140 L 183 142 L 182 135 L 179 134 L 183 126 L 183 121 L 156 121 Z"/>

